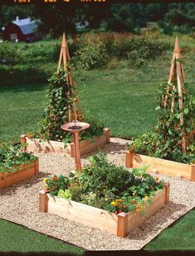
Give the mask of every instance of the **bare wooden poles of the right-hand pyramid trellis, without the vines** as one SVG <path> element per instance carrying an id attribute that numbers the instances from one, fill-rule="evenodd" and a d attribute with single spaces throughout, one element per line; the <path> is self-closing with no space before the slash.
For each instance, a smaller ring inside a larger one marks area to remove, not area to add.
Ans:
<path id="1" fill-rule="evenodd" d="M 175 40 L 175 46 L 173 51 L 173 59 L 172 59 L 172 65 L 170 68 L 169 76 L 168 76 L 168 86 L 167 86 L 167 94 L 164 97 L 163 100 L 163 106 L 164 108 L 168 107 L 168 100 L 170 100 L 170 108 L 171 112 L 174 112 L 175 108 L 175 97 L 174 97 L 174 89 L 177 86 L 178 87 L 178 110 L 180 114 L 180 125 L 183 127 L 184 117 L 183 117 L 183 92 L 187 92 L 187 88 L 185 88 L 185 73 L 183 69 L 183 63 L 181 63 L 181 53 L 178 47 L 178 37 Z M 173 88 L 171 87 L 171 84 L 173 83 Z M 171 88 L 173 89 L 173 92 L 170 93 Z M 171 98 L 168 98 L 169 95 L 172 95 Z M 191 125 L 193 128 L 193 118 L 191 118 Z M 192 129 L 191 129 L 192 130 Z M 183 153 L 186 153 L 186 147 L 188 145 L 188 138 L 193 138 L 193 133 L 190 133 L 190 135 L 187 135 L 185 128 L 182 128 L 182 151 Z"/>

